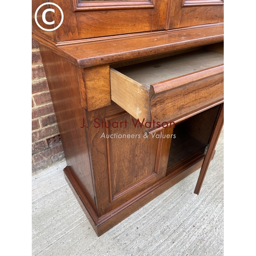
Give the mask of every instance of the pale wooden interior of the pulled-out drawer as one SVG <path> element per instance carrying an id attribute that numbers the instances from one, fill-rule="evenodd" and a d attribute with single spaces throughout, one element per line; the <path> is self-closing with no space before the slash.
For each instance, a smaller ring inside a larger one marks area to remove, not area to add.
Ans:
<path id="1" fill-rule="evenodd" d="M 150 90 L 151 84 L 218 66 L 223 61 L 223 54 L 201 49 L 116 70 Z"/>

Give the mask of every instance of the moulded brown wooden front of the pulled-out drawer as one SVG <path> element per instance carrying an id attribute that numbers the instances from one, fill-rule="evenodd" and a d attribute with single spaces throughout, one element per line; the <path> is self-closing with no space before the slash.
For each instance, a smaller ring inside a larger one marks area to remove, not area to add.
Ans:
<path id="1" fill-rule="evenodd" d="M 170 79 L 151 87 L 151 120 L 176 121 L 223 101 L 224 65 Z"/>

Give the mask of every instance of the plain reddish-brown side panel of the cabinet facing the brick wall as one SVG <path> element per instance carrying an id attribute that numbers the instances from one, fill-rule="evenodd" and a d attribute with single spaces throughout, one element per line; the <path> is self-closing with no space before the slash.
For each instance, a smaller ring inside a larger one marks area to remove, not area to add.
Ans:
<path id="1" fill-rule="evenodd" d="M 78 70 L 45 46 L 39 44 L 39 49 L 67 164 L 96 210 L 86 132 L 84 127 L 81 128 L 85 117 L 81 107 Z"/>

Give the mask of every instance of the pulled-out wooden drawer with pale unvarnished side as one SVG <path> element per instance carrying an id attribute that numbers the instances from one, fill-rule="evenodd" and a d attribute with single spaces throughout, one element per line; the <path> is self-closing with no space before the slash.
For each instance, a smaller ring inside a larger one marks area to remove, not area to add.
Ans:
<path id="1" fill-rule="evenodd" d="M 111 69 L 111 99 L 143 124 L 176 122 L 223 102 L 223 69 L 206 50 Z"/>

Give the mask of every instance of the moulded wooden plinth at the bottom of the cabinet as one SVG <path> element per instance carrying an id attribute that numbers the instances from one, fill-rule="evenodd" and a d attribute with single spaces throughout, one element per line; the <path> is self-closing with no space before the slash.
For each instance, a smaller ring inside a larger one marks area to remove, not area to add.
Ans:
<path id="1" fill-rule="evenodd" d="M 194 173 L 197 169 L 201 168 L 203 163 L 203 158 L 198 157 L 186 162 L 185 165 L 177 169 L 175 175 L 167 175 L 160 181 L 156 182 L 152 186 L 143 190 L 141 193 L 135 197 L 127 200 L 123 204 L 119 205 L 112 211 L 108 212 L 102 217 L 98 217 L 96 212 L 93 209 L 93 206 L 90 204 L 86 195 L 84 195 L 81 187 L 78 185 L 75 177 L 72 174 L 71 168 L 67 166 L 64 169 L 65 178 L 70 185 L 77 201 L 82 207 L 84 213 L 86 214 L 88 220 L 90 221 L 92 227 L 94 228 L 97 236 L 101 236 L 103 233 L 117 225 L 119 222 L 133 214 L 136 210 L 155 199 L 157 196 L 162 194 L 165 190 L 172 187 L 191 173 Z"/>

